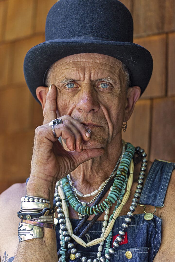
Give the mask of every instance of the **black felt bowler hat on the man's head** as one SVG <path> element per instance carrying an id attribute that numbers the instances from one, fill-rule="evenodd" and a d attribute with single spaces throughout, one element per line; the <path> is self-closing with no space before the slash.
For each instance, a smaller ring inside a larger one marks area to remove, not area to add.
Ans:
<path id="1" fill-rule="evenodd" d="M 153 61 L 149 51 L 133 43 L 133 21 L 118 0 L 60 0 L 50 9 L 46 41 L 32 47 L 24 59 L 26 83 L 35 97 L 45 85 L 48 68 L 57 60 L 78 53 L 99 53 L 123 62 L 131 74 L 131 86 L 149 83 Z"/>

